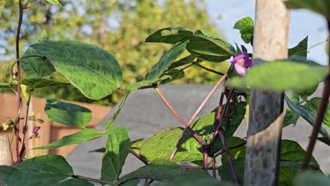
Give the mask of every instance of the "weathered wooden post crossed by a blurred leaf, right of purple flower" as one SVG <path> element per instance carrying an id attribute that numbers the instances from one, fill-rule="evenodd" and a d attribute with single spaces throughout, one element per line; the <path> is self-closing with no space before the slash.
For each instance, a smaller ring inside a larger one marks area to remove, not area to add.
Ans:
<path id="1" fill-rule="evenodd" d="M 283 0 L 256 0 L 252 64 L 287 58 L 289 11 Z M 283 94 L 251 90 L 244 185 L 278 185 Z"/>

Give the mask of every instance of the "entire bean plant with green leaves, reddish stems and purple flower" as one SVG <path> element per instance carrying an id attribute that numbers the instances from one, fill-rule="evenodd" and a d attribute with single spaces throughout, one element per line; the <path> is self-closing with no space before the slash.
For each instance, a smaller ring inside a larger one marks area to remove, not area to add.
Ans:
<path id="1" fill-rule="evenodd" d="M 57 0 L 46 1 L 63 8 Z M 253 65 L 253 52 L 246 48 L 247 45 L 253 47 L 254 22 L 250 17 L 244 17 L 234 23 L 234 29 L 241 33 L 243 45 L 232 45 L 206 30 L 162 28 L 148 36 L 145 44 L 166 43 L 172 45 L 172 48 L 164 52 L 146 74 L 145 80 L 122 86 L 120 62 L 96 45 L 81 41 L 52 41 L 47 32 L 43 31 L 28 50 L 20 55 L 19 39 L 23 12 L 29 8 L 30 3 L 34 1 L 17 1 L 17 60 L 12 62 L 8 82 L 0 83 L 1 88 L 10 89 L 17 94 L 17 117 L 7 118 L 3 123 L 4 130 L 13 132 L 16 143 L 14 156 L 17 158 L 12 166 L 0 166 L 0 177 L 6 185 L 93 185 L 90 181 L 102 185 L 138 185 L 141 179 L 145 180 L 145 185 L 242 185 L 246 139 L 233 134 L 242 121 L 248 119 L 251 88 L 274 92 L 292 90 L 290 94 L 285 93 L 288 107 L 283 127 L 296 125 L 301 116 L 316 130 L 316 136 L 311 136 L 311 150 L 316 140 L 330 145 L 330 110 L 327 108 L 329 68 L 307 60 L 308 37 L 302 39 L 294 48 L 288 49 L 288 59 Z M 328 22 L 330 20 L 329 1 L 292 0 L 285 4 L 287 8 L 308 8 L 324 15 Z M 184 51 L 189 54 L 183 56 Z M 224 61 L 227 60 L 231 65 L 224 74 L 200 64 L 201 61 L 226 63 Z M 201 101 L 190 120 L 185 121 L 159 87 L 181 79 L 185 76 L 184 70 L 195 67 L 218 74 L 219 81 Z M 21 76 L 21 70 L 28 76 Z M 54 72 L 63 74 L 67 81 L 47 79 L 47 76 Z M 323 97 L 312 97 L 323 79 Z M 197 118 L 197 114 L 221 84 L 223 86 L 219 103 L 214 104 L 214 110 Z M 43 123 L 43 120 L 29 115 L 29 109 L 26 113 L 21 113 L 22 105 L 27 104 L 29 107 L 33 92 L 41 88 L 69 85 L 94 100 L 100 100 L 118 91 L 125 92 L 126 95 L 109 121 L 102 123 L 105 130 L 101 131 L 86 127 L 91 121 L 91 110 L 65 103 L 58 100 L 60 98 L 45 97 L 45 113 L 50 121 L 68 127 L 79 127 L 81 130 L 34 149 L 80 144 L 107 136 L 104 147 L 94 150 L 103 154 L 101 176 L 98 179 L 74 174 L 63 156 L 47 154 L 25 158 L 25 152 L 29 150 L 26 149 L 25 143 L 38 137 L 39 130 L 43 130 L 43 124 L 40 124 L 34 127 L 32 136 L 25 136 L 27 122 Z M 151 138 L 131 141 L 129 131 L 113 123 L 124 107 L 127 97 L 135 91 L 147 88 L 154 89 L 159 94 L 159 98 L 183 126 L 159 131 Z M 25 97 L 27 103 L 23 103 L 21 96 Z M 22 134 L 20 129 L 23 130 Z M 321 137 L 317 136 L 318 132 Z M 281 141 L 280 185 L 330 185 L 330 178 L 322 174 L 318 161 L 309 151 L 305 152 L 296 141 Z M 121 175 L 122 166 L 129 153 L 145 165 L 129 174 Z M 306 165 L 303 163 L 304 159 L 307 160 Z M 221 161 L 220 166 L 217 166 L 217 161 Z M 192 165 L 180 164 L 187 162 Z M 300 173 L 301 169 L 308 169 L 309 172 Z M 212 172 L 209 173 L 208 170 Z M 153 182 L 154 180 L 157 182 Z"/>

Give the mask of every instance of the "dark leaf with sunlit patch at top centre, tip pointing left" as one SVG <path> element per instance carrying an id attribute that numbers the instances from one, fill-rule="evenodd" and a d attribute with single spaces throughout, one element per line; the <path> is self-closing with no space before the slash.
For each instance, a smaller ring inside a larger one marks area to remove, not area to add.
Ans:
<path id="1" fill-rule="evenodd" d="M 175 44 L 187 40 L 192 32 L 181 27 L 168 27 L 157 30 L 146 38 L 146 42 Z"/>

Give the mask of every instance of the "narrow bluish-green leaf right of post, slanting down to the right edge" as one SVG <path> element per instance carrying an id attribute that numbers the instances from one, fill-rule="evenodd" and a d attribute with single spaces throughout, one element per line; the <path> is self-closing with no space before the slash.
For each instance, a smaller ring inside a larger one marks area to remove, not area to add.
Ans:
<path id="1" fill-rule="evenodd" d="M 294 111 L 297 112 L 300 116 L 302 116 L 309 124 L 314 125 L 314 122 L 316 120 L 315 115 L 313 114 L 313 111 L 309 108 L 305 107 L 304 105 L 298 105 L 296 103 L 293 103 L 286 95 L 285 95 L 285 101 L 287 101 L 287 105 Z M 328 125 L 322 124 L 320 128 L 320 134 L 324 136 L 325 138 L 330 138 L 330 129 Z"/>

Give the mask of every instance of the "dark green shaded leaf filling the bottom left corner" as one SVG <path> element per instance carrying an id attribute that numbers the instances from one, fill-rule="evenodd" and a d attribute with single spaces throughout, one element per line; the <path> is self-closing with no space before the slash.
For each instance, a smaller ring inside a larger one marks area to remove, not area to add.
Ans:
<path id="1" fill-rule="evenodd" d="M 0 175 L 6 185 L 52 185 L 73 174 L 65 158 L 51 154 L 25 160 L 16 167 L 0 166 Z"/>

